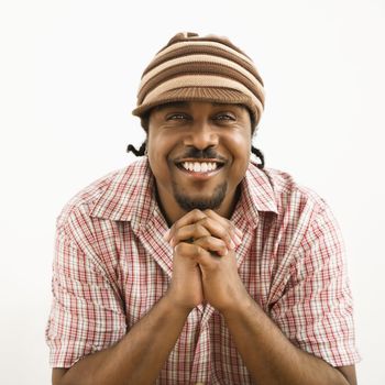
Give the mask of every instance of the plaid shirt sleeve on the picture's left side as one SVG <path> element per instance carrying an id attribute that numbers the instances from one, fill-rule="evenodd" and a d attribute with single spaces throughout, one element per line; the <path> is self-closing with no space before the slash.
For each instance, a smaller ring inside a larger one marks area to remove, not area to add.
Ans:
<path id="1" fill-rule="evenodd" d="M 63 229 L 58 229 L 56 235 L 52 290 L 45 331 L 52 367 L 70 367 L 125 334 L 119 294 L 90 255 Z"/>

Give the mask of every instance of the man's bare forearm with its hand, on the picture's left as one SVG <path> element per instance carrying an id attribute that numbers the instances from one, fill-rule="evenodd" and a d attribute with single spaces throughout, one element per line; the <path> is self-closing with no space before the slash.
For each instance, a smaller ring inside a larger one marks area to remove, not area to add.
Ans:
<path id="1" fill-rule="evenodd" d="M 201 217 L 205 215 L 198 213 Z M 190 257 L 191 248 L 189 243 L 175 248 L 167 293 L 129 333 L 111 348 L 84 356 L 68 370 L 54 369 L 53 385 L 153 384 L 190 310 L 204 300 L 201 275 Z"/>

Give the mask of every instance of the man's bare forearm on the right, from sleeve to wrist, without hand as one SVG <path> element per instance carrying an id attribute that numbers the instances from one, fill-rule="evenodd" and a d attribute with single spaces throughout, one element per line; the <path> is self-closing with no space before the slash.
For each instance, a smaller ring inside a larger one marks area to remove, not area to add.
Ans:
<path id="1" fill-rule="evenodd" d="M 237 309 L 223 310 L 222 315 L 256 383 L 356 385 L 353 365 L 338 370 L 296 348 L 249 296 Z"/>

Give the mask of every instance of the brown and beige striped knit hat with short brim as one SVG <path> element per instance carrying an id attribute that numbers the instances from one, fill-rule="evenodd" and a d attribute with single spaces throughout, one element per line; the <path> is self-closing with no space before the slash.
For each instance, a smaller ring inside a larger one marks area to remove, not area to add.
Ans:
<path id="1" fill-rule="evenodd" d="M 143 118 L 174 101 L 244 105 L 256 127 L 265 97 L 254 63 L 240 48 L 222 36 L 188 32 L 176 34 L 146 67 L 132 113 Z"/>

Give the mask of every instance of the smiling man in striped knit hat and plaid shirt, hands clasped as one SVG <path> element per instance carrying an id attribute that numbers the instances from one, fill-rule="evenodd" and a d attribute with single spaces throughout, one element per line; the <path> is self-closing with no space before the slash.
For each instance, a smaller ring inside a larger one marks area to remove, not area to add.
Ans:
<path id="1" fill-rule="evenodd" d="M 338 226 L 264 169 L 263 107 L 228 40 L 177 34 L 157 53 L 133 111 L 144 157 L 57 221 L 53 384 L 356 384 Z"/>

